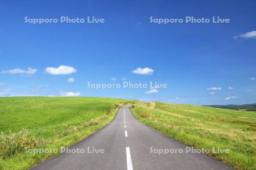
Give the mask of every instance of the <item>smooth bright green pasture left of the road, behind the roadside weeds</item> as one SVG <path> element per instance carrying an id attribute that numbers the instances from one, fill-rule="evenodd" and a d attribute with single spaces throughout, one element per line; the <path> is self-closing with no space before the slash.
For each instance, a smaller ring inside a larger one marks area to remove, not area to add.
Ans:
<path id="1" fill-rule="evenodd" d="M 103 116 L 121 99 L 100 97 L 2 97 L 0 131 L 27 128 L 38 138 L 51 138 L 63 124 L 79 126 Z"/>

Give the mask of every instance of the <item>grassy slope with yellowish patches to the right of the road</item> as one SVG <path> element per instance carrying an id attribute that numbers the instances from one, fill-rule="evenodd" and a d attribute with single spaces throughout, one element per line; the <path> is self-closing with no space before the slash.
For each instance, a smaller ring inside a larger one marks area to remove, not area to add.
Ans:
<path id="1" fill-rule="evenodd" d="M 236 169 L 256 169 L 256 112 L 193 105 L 147 103 L 131 108 L 144 124 Z M 212 148 L 230 153 L 213 153 Z"/>

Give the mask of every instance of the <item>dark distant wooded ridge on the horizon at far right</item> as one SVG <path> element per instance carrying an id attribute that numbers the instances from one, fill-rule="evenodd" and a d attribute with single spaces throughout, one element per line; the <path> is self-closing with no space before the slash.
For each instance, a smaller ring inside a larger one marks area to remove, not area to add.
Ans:
<path id="1" fill-rule="evenodd" d="M 242 105 L 204 105 L 206 107 L 221 108 L 221 109 L 232 109 L 232 110 L 244 110 L 244 111 L 256 111 L 256 103 L 254 104 L 242 104 Z"/>

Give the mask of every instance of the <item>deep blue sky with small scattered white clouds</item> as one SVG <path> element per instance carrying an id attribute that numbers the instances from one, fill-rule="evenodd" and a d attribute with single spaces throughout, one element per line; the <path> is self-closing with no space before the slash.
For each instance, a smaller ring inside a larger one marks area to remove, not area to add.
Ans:
<path id="1" fill-rule="evenodd" d="M 25 16 L 94 16 L 105 23 L 32 24 L 24 22 Z M 230 23 L 158 24 L 150 23 L 150 16 L 220 16 Z M 0 96 L 256 103 L 255 16 L 255 1 L 2 1 Z M 87 86 L 122 84 L 123 78 L 167 88 Z"/>

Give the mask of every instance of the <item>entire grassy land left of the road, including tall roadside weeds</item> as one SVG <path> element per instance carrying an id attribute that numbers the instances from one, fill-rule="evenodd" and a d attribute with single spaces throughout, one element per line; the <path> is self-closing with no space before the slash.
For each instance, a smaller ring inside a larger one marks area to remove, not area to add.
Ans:
<path id="1" fill-rule="evenodd" d="M 113 120 L 118 107 L 136 101 L 100 97 L 0 97 L 0 169 L 28 169 Z M 26 128 L 26 130 L 22 130 Z M 11 130 L 11 133 L 9 132 Z"/>

